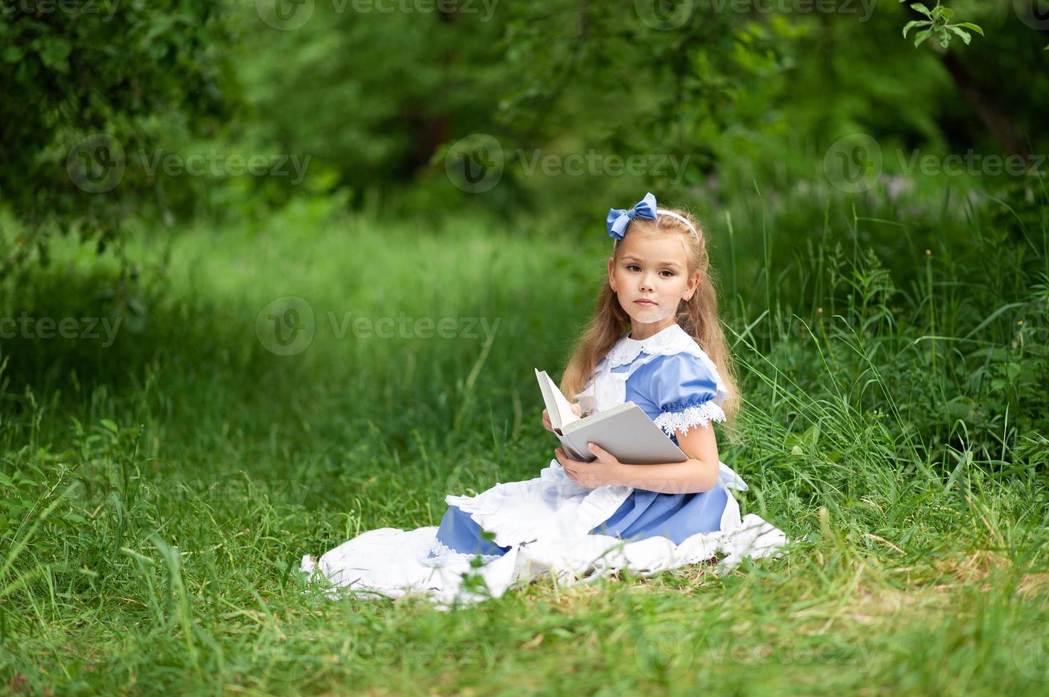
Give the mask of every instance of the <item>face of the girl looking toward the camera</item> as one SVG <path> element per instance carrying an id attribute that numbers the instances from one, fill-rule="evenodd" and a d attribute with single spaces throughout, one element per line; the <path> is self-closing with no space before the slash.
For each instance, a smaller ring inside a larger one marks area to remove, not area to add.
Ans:
<path id="1" fill-rule="evenodd" d="M 647 339 L 677 321 L 678 305 L 695 292 L 700 273 L 688 274 L 679 235 L 627 235 L 619 259 L 608 259 L 608 283 L 630 315 L 630 337 Z"/>

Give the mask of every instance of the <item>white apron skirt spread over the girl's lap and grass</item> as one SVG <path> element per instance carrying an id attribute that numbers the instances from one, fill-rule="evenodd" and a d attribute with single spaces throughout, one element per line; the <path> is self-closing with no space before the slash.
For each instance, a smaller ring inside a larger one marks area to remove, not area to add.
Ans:
<path id="1" fill-rule="evenodd" d="M 724 462 L 719 478 L 725 488 L 747 488 Z M 458 506 L 493 533 L 495 544 L 510 546 L 502 556 L 481 557 L 479 566 L 474 566 L 477 554 L 445 547 L 436 539 L 437 526 L 431 525 L 362 532 L 320 560 L 304 556 L 300 570 L 329 584 L 326 592 L 333 597 L 347 591 L 366 597 L 419 595 L 448 609 L 498 597 L 511 587 L 522 587 L 548 573 L 557 583 L 571 585 L 624 569 L 650 575 L 719 553 L 725 558 L 715 569 L 724 573 L 744 557 L 778 557 L 788 542 L 783 530 L 754 514 L 741 519 L 731 494 L 720 530 L 693 535 L 679 545 L 662 537 L 626 542 L 590 535 L 631 491 L 623 485 L 579 486 L 557 460 L 551 460 L 534 479 L 496 484 L 473 497 L 445 497 L 447 503 Z"/>

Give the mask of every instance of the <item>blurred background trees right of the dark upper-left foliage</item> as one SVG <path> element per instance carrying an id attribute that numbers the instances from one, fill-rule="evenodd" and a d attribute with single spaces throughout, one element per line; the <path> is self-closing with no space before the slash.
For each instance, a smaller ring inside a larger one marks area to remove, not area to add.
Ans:
<path id="1" fill-rule="evenodd" d="M 462 0 L 389 13 L 318 2 L 294 29 L 244 15 L 238 64 L 253 112 L 237 137 L 250 150 L 312 156 L 312 172 L 352 189 L 359 205 L 367 191 L 410 191 L 423 210 L 501 213 L 555 200 L 582 209 L 646 186 L 684 192 L 726 157 L 779 167 L 761 150 L 770 136 L 802 147 L 798 160 L 850 132 L 933 148 L 993 147 L 990 135 L 1011 151 L 1049 92 L 1023 96 L 1044 78 L 1003 79 L 999 67 L 1013 61 L 1010 42 L 1031 60 L 1037 31 L 1011 7 L 951 4 L 988 36 L 916 51 L 900 29 L 923 14 L 858 0 Z M 489 157 L 501 150 L 501 183 L 479 197 L 445 176 L 446 156 L 467 136 Z M 542 158 L 563 169 L 590 153 L 598 162 L 587 176 L 543 174 Z M 613 156 L 649 155 L 687 161 L 680 177 L 655 167 L 600 176 Z"/>

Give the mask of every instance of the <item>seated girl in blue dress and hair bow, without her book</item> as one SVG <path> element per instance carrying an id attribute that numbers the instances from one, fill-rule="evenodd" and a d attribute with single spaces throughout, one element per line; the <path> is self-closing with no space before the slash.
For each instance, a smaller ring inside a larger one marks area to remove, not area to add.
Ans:
<path id="1" fill-rule="evenodd" d="M 421 592 L 447 607 L 545 572 L 569 583 L 622 568 L 655 573 L 719 551 L 731 568 L 787 542 L 755 515 L 741 520 L 727 491 L 747 485 L 720 461 L 711 421 L 727 421 L 738 397 L 702 231 L 650 193 L 609 210 L 606 224 L 608 280 L 561 392 L 584 416 L 634 401 L 688 460 L 626 464 L 591 443 L 597 459 L 581 462 L 558 448 L 534 479 L 446 497 L 438 527 L 370 530 L 319 563 L 304 557 L 303 571 L 369 595 Z M 551 429 L 545 410 L 542 420 Z M 481 583 L 465 584 L 471 576 Z"/>

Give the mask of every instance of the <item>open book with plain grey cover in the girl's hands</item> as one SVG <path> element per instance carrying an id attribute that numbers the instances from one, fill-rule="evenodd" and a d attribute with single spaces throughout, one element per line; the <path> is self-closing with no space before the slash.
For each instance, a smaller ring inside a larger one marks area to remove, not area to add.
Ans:
<path id="1" fill-rule="evenodd" d="M 626 464 L 684 462 L 688 456 L 633 401 L 624 401 L 600 414 L 580 418 L 572 411 L 560 389 L 547 371 L 535 369 L 550 424 L 575 460 L 593 462 L 597 457 L 586 443 L 597 443 Z"/>

